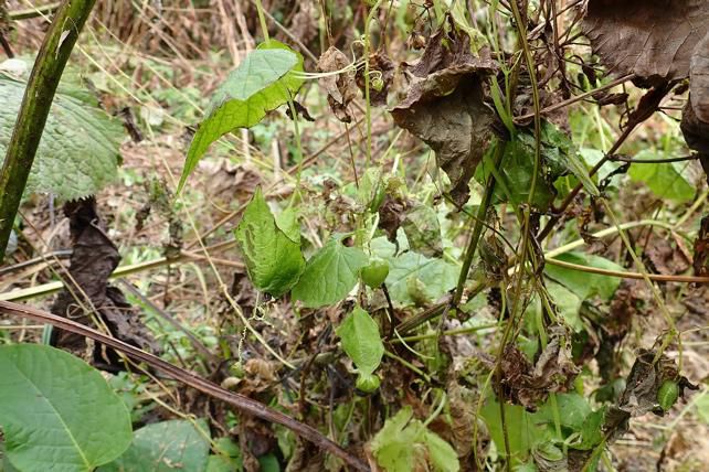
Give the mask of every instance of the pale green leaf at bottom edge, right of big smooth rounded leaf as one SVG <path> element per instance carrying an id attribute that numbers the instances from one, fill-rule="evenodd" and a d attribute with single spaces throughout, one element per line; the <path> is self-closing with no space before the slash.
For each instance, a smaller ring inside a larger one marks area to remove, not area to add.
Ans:
<path id="1" fill-rule="evenodd" d="M 170 420 L 136 431 L 130 448 L 100 472 L 202 472 L 209 457 L 209 428 L 204 420 Z"/>

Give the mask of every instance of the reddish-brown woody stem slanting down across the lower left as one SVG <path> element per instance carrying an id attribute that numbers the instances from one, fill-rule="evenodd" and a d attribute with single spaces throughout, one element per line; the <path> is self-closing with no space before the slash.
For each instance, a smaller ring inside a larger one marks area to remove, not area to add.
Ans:
<path id="1" fill-rule="evenodd" d="M 75 321 L 57 317 L 46 311 L 38 310 L 35 308 L 25 307 L 22 304 L 17 304 L 8 301 L 0 301 L 0 313 L 9 314 L 13 317 L 27 318 L 40 323 L 50 323 L 62 330 L 70 331 L 75 334 L 80 334 L 86 337 L 89 337 L 96 342 L 105 344 L 120 351 L 126 356 L 138 361 L 144 362 L 150 367 L 154 367 L 158 371 L 163 372 L 170 377 L 174 378 L 178 382 L 181 382 L 184 385 L 188 385 L 197 390 L 202 391 L 213 398 L 225 401 L 240 410 L 253 415 L 257 418 L 264 419 L 269 422 L 275 422 L 282 425 L 296 435 L 300 436 L 304 439 L 311 441 L 315 446 L 320 449 L 337 455 L 348 465 L 358 471 L 369 471 L 370 468 L 363 463 L 360 459 L 352 455 L 342 449 L 339 444 L 326 438 L 317 429 L 305 425 L 300 421 L 297 421 L 290 418 L 287 415 L 284 415 L 281 411 L 274 410 L 252 398 L 248 398 L 244 395 L 235 394 L 233 391 L 226 390 L 219 385 L 205 380 L 202 377 L 199 377 L 192 374 L 189 371 L 180 368 L 176 365 L 172 365 L 166 361 L 162 361 L 160 357 L 157 357 L 152 354 L 149 354 L 138 347 L 126 344 L 123 341 L 116 340 L 114 337 L 107 336 L 103 333 L 99 333 L 96 330 L 93 330 L 83 324 L 76 323 Z"/>

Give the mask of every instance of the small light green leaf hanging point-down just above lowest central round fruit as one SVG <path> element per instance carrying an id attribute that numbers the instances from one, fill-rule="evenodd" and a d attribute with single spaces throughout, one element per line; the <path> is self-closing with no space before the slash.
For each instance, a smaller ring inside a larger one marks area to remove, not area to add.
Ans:
<path id="1" fill-rule="evenodd" d="M 379 326 L 368 312 L 354 307 L 337 329 L 337 335 L 342 340 L 342 348 L 359 372 L 372 374 L 379 367 L 384 345 L 379 335 Z"/>

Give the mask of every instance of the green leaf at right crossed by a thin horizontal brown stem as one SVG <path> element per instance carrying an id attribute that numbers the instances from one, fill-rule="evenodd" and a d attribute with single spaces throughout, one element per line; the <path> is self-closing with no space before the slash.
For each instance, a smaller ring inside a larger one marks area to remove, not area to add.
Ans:
<path id="1" fill-rule="evenodd" d="M 623 267 L 612 260 L 584 253 L 567 253 L 554 257 L 554 259 L 599 269 L 624 270 Z M 552 264 L 544 266 L 544 273 L 574 292 L 582 301 L 594 296 L 610 300 L 621 285 L 621 279 L 616 277 L 582 272 Z"/>

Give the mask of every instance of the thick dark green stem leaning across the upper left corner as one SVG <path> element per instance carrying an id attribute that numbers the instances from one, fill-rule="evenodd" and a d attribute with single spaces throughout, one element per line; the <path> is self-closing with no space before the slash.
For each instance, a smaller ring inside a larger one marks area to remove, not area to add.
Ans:
<path id="1" fill-rule="evenodd" d="M 27 186 L 56 87 L 96 0 L 64 0 L 34 61 L 0 171 L 0 262 Z M 86 157 L 89 159 L 88 157 Z"/>

